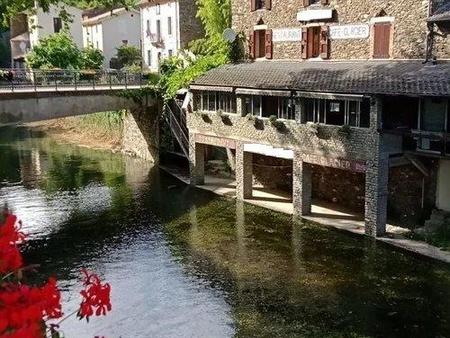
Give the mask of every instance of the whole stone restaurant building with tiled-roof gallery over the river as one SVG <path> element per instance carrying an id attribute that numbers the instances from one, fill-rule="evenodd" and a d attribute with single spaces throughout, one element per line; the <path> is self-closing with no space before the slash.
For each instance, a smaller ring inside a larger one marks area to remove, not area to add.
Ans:
<path id="1" fill-rule="evenodd" d="M 448 7 L 233 0 L 250 60 L 190 87 L 191 182 L 215 146 L 235 155 L 239 199 L 284 189 L 300 216 L 325 200 L 364 214 L 371 236 L 450 211 Z"/>

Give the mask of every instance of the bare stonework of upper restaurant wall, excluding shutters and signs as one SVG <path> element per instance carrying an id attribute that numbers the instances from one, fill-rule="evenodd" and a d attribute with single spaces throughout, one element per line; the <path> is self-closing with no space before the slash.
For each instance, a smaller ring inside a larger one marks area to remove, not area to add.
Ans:
<path id="1" fill-rule="evenodd" d="M 326 21 L 311 21 L 303 25 L 297 13 L 305 10 L 301 1 L 272 0 L 271 10 L 250 10 L 249 1 L 232 0 L 233 28 L 246 37 L 258 24 L 267 29 L 301 28 L 311 25 L 366 24 L 370 27 L 368 38 L 339 39 L 330 41 L 330 59 L 371 59 L 373 46 L 373 23 L 376 20 L 392 20 L 391 58 L 424 59 L 428 17 L 428 0 L 331 0 L 326 8 L 333 9 L 333 18 Z M 380 18 L 382 17 L 382 18 Z M 435 41 L 435 55 L 450 58 L 447 38 Z M 301 42 L 274 42 L 274 59 L 301 59 Z"/>

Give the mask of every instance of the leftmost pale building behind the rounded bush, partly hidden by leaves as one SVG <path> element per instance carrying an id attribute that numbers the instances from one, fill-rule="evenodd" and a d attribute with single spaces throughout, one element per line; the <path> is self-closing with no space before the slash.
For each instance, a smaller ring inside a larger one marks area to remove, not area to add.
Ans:
<path id="1" fill-rule="evenodd" d="M 20 13 L 11 20 L 10 41 L 13 67 L 23 67 L 25 55 L 39 43 L 39 40 L 63 29 L 62 11 L 69 14 L 72 19 L 72 22 L 68 23 L 69 33 L 79 47 L 83 46 L 81 9 L 52 5 L 48 12 L 44 12 L 41 8 L 36 8 L 29 12 Z"/>

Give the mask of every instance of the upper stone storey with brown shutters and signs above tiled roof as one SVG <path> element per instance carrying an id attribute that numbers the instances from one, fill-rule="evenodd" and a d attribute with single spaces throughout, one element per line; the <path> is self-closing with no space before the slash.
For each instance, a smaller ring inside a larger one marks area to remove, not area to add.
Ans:
<path id="1" fill-rule="evenodd" d="M 439 8 L 440 0 L 435 1 Z M 245 34 L 249 55 L 255 58 L 424 59 L 430 4 L 430 0 L 233 0 L 233 29 Z M 450 45 L 437 38 L 434 53 L 449 58 Z"/>

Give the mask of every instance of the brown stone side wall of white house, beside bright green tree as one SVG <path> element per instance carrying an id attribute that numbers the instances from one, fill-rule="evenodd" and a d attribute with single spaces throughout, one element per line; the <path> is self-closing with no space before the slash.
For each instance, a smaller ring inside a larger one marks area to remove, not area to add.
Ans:
<path id="1" fill-rule="evenodd" d="M 202 38 L 204 30 L 197 15 L 197 4 L 195 0 L 178 0 L 180 17 L 180 40 L 181 48 L 186 48 L 192 40 Z"/>

